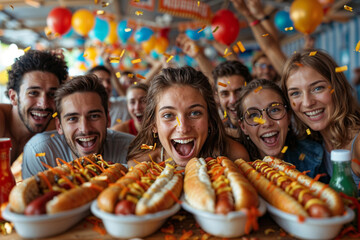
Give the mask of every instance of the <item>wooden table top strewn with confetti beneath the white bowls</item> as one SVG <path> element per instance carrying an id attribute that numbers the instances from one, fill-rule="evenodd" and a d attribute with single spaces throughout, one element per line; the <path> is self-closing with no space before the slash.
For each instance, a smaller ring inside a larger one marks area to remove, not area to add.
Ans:
<path id="1" fill-rule="evenodd" d="M 204 232 L 197 226 L 195 219 L 193 216 L 186 212 L 185 210 L 181 209 L 175 216 L 185 216 L 184 220 L 180 221 L 178 218 L 169 218 L 167 222 L 162 227 L 168 227 L 170 224 L 175 226 L 174 236 L 177 239 L 180 239 L 180 236 L 183 234 L 183 230 L 192 230 L 193 235 L 189 239 L 201 239 L 201 236 Z M 269 239 L 269 240 L 288 240 L 288 239 L 297 239 L 295 237 L 290 236 L 286 232 L 284 232 L 276 223 L 271 219 L 271 217 L 266 213 L 264 216 L 258 219 L 258 223 L 260 229 L 255 232 L 251 232 L 249 235 L 242 236 L 239 238 L 234 239 L 241 239 L 241 240 L 255 240 L 255 239 Z M 76 226 L 69 229 L 63 234 L 43 238 L 48 240 L 108 240 L 108 239 L 116 239 L 109 234 L 102 235 L 95 230 L 93 230 L 94 225 L 90 223 L 87 219 L 82 220 Z M 164 239 L 165 234 L 161 232 L 159 229 L 154 234 L 144 238 L 148 240 L 154 239 Z M 0 236 L 2 240 L 17 240 L 22 239 L 15 231 L 6 236 Z M 209 239 L 222 239 L 211 236 Z M 356 238 L 349 238 L 348 236 L 343 237 L 342 239 L 356 239 Z"/>

